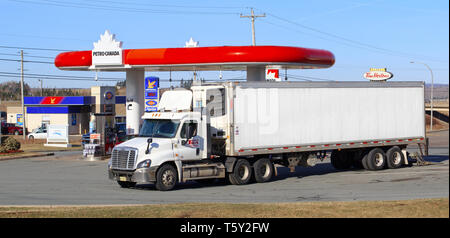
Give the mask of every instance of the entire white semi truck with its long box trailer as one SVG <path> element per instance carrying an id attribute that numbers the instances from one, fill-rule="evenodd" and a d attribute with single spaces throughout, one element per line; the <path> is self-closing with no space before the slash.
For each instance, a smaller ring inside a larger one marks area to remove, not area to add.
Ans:
<path id="1" fill-rule="evenodd" d="M 395 169 L 425 142 L 423 82 L 222 82 L 162 95 L 138 137 L 112 151 L 122 187 L 225 178 L 266 182 L 276 165 Z M 328 152 L 328 153 L 327 153 Z"/>

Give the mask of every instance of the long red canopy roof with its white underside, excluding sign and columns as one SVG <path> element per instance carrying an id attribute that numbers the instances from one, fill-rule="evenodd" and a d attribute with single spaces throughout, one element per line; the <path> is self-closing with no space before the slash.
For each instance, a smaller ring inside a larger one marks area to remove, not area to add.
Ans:
<path id="1" fill-rule="evenodd" d="M 124 49 L 121 57 L 121 64 L 102 65 L 93 63 L 93 51 L 65 52 L 55 58 L 55 66 L 62 70 L 218 71 L 270 65 L 312 69 L 328 68 L 334 64 L 334 55 L 327 50 L 288 46 Z"/>

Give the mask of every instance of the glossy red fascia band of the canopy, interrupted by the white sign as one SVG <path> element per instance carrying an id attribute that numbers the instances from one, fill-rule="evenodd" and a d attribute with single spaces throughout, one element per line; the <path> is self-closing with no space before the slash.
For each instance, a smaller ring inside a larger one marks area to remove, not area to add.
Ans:
<path id="1" fill-rule="evenodd" d="M 327 50 L 289 46 L 219 46 L 192 48 L 128 49 L 122 52 L 122 64 L 131 67 L 152 65 L 202 64 L 289 64 L 331 67 L 334 55 Z M 55 66 L 87 69 L 92 65 L 92 51 L 61 53 Z"/>

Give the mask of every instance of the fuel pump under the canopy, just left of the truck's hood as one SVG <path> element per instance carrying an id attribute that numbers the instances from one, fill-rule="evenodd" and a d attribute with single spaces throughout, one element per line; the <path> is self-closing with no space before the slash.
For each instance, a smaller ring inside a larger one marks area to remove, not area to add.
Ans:
<path id="1" fill-rule="evenodd" d="M 88 160 L 102 159 L 104 156 L 111 154 L 116 144 L 116 133 L 114 130 L 114 114 L 113 113 L 94 113 L 94 128 L 89 137 L 89 143 L 84 145 L 83 157 Z"/>

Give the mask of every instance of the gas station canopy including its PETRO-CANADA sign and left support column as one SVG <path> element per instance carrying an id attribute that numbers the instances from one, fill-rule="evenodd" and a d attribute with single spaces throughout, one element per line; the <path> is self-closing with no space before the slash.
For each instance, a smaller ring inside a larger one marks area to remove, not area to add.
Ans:
<path id="1" fill-rule="evenodd" d="M 256 82 L 278 75 L 279 69 L 328 68 L 333 64 L 334 55 L 329 51 L 288 46 L 198 47 L 189 43 L 184 48 L 122 49 L 122 42 L 108 30 L 94 42 L 93 50 L 65 52 L 55 58 L 55 66 L 61 70 L 126 72 L 127 134 L 139 132 L 146 71 L 244 70 L 247 81 Z"/>

